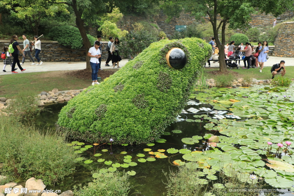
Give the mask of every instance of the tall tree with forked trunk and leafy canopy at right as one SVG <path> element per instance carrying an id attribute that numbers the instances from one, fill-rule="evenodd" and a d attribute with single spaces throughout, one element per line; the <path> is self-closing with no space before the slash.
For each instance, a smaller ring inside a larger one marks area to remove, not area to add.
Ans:
<path id="1" fill-rule="evenodd" d="M 272 13 L 277 17 L 286 9 L 293 9 L 293 0 L 164 0 L 162 8 L 168 20 L 179 17 L 183 9 L 185 12 L 191 12 L 196 19 L 208 15 L 216 45 L 219 48 L 220 71 L 226 72 L 224 45 L 227 24 L 231 29 L 244 29 L 248 27 L 251 20 L 250 14 L 255 11 L 255 8 L 258 8 L 260 12 Z"/>

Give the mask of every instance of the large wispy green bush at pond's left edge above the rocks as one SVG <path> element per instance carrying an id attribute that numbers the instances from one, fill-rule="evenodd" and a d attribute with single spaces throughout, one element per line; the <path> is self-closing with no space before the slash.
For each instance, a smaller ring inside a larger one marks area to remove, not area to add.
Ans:
<path id="1" fill-rule="evenodd" d="M 0 175 L 35 177 L 46 185 L 71 174 L 78 157 L 64 137 L 42 135 L 33 126 L 16 122 L 13 115 L 0 115 L 0 149 Z"/>

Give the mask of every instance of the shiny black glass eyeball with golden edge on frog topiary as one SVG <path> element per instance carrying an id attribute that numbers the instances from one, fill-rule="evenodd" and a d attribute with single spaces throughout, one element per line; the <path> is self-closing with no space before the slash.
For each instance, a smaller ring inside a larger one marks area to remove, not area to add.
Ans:
<path id="1" fill-rule="evenodd" d="M 166 61 L 170 68 L 182 69 L 187 63 L 187 56 L 181 48 L 171 48 L 166 54 Z"/>

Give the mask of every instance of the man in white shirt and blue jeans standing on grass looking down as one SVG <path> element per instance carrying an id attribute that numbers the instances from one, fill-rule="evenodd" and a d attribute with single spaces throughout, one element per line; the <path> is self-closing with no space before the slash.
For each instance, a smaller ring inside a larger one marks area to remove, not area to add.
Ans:
<path id="1" fill-rule="evenodd" d="M 95 45 L 89 49 L 88 56 L 91 57 L 90 65 L 92 68 L 92 85 L 99 84 L 97 81 L 97 73 L 100 68 L 99 58 L 101 57 L 101 53 L 99 50 L 100 42 L 95 41 Z"/>

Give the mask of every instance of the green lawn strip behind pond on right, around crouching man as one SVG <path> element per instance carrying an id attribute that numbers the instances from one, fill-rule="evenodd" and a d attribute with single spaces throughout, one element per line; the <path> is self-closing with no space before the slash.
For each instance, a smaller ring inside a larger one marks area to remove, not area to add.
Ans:
<path id="1" fill-rule="evenodd" d="M 255 68 L 250 68 L 248 69 L 237 69 L 237 68 L 233 68 L 233 69 L 228 69 L 228 72 L 230 71 L 235 71 L 238 72 L 239 76 L 237 76 L 237 78 L 243 78 L 243 77 L 250 77 L 250 78 L 255 78 L 257 80 L 266 80 L 266 79 L 271 79 L 272 78 L 272 74 L 270 73 L 270 69 L 271 67 L 264 67 L 262 70 L 262 73 L 259 72 L 259 68 L 255 69 Z M 286 68 L 287 72 L 285 74 L 285 77 L 289 77 L 292 78 L 294 77 L 294 66 L 289 66 Z M 208 79 L 215 79 L 215 75 L 209 74 L 207 73 L 208 71 L 216 71 L 219 70 L 219 68 L 205 68 L 204 69 L 204 73 L 207 75 Z"/>

